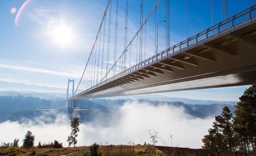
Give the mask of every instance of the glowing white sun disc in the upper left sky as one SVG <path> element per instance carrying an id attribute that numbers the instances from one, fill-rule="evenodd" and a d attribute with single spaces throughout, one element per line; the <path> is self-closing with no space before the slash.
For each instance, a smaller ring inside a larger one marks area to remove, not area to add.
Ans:
<path id="1" fill-rule="evenodd" d="M 59 46 L 68 46 L 74 43 L 74 33 L 71 27 L 61 25 L 52 27 L 52 40 Z"/>

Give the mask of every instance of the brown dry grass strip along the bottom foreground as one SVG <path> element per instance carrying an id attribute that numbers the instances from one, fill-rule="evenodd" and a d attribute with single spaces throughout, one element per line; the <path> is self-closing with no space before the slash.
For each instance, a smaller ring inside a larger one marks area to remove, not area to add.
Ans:
<path id="1" fill-rule="evenodd" d="M 83 152 L 88 151 L 89 146 L 81 146 L 81 147 L 66 147 L 60 149 L 53 148 L 31 148 L 31 149 L 23 149 L 23 148 L 7 148 L 0 149 L 0 155 L 10 155 L 10 156 L 30 156 L 32 150 L 36 151 L 36 156 L 82 156 Z M 100 152 L 102 152 L 106 156 L 147 156 L 147 153 L 141 153 L 148 146 L 144 145 L 115 145 L 115 146 L 100 146 Z M 181 147 L 165 147 L 165 146 L 150 146 L 152 151 L 161 153 L 163 156 L 167 155 L 193 155 L 193 156 L 208 156 L 215 155 L 216 153 L 211 150 L 204 149 L 191 149 L 191 148 L 181 148 Z M 15 153 L 15 154 L 14 154 Z"/>

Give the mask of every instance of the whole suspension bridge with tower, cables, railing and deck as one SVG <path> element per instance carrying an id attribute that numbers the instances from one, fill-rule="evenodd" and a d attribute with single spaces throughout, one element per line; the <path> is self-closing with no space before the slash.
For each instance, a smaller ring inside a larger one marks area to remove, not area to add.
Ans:
<path id="1" fill-rule="evenodd" d="M 256 5 L 252 2 L 250 8 L 229 17 L 228 1 L 221 2 L 223 21 L 214 24 L 211 0 L 212 27 L 188 37 L 186 1 L 187 39 L 170 46 L 170 0 L 159 0 L 146 18 L 140 0 L 140 27 L 130 41 L 126 0 L 122 49 L 117 41 L 118 0 L 109 0 L 78 86 L 68 80 L 73 88 L 72 94 L 67 91 L 66 106 L 73 107 L 76 99 L 256 84 Z M 165 17 L 157 21 L 160 3 L 165 3 Z M 146 42 L 148 24 L 155 30 L 153 46 Z M 165 47 L 160 48 L 161 24 L 165 24 Z"/>

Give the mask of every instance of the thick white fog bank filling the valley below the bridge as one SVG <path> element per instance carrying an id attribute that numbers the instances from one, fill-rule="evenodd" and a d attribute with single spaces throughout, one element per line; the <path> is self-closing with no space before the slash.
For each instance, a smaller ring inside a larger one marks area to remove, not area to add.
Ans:
<path id="1" fill-rule="evenodd" d="M 157 145 L 163 145 L 160 138 L 167 141 L 169 134 L 173 142 L 180 147 L 200 148 L 201 139 L 211 128 L 214 117 L 195 118 L 185 113 L 183 107 L 167 104 L 150 105 L 147 102 L 127 101 L 124 105 L 112 110 L 110 117 L 98 114 L 95 122 L 81 123 L 76 146 L 90 145 L 94 142 L 106 144 L 126 144 L 132 140 L 134 144 L 150 143 L 148 130 L 158 132 Z M 95 124 L 106 118 L 107 124 Z M 57 119 L 46 124 L 47 113 L 40 118 L 27 122 L 5 121 L 0 123 L 0 142 L 12 142 L 19 138 L 20 145 L 25 133 L 30 130 L 35 137 L 35 145 L 39 141 L 48 143 L 59 140 L 68 146 L 67 137 L 71 132 L 70 119 L 67 114 L 57 114 Z M 103 126 L 107 125 L 107 126 Z"/>

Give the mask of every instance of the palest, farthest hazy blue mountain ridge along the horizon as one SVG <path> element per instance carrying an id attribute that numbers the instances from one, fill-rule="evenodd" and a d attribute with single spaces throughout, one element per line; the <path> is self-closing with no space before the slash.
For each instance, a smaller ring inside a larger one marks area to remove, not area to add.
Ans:
<path id="1" fill-rule="evenodd" d="M 9 90 L 9 91 L 6 91 Z M 11 91 L 10 91 L 11 90 Z M 27 85 L 24 83 L 9 83 L 0 81 L 0 96 L 17 96 L 23 95 L 25 97 L 39 97 L 42 99 L 54 99 L 54 98 L 65 98 L 66 89 L 57 87 Z M 167 97 L 162 95 L 144 94 L 144 95 L 132 95 L 122 97 L 109 97 L 106 99 L 148 99 L 166 102 L 180 101 L 185 104 L 191 105 L 211 105 L 211 104 L 227 104 L 236 105 L 238 101 L 215 101 L 215 100 L 196 100 L 182 97 Z"/>

